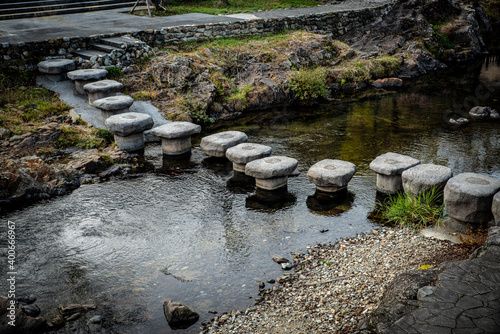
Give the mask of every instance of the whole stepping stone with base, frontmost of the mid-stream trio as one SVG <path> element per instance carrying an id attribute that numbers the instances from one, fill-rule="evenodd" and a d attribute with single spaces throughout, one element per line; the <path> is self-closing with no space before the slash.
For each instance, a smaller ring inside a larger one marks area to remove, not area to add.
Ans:
<path id="1" fill-rule="evenodd" d="M 271 156 L 250 161 L 245 174 L 255 178 L 257 188 L 276 190 L 286 186 L 288 175 L 297 168 L 298 161 L 284 156 Z"/>

